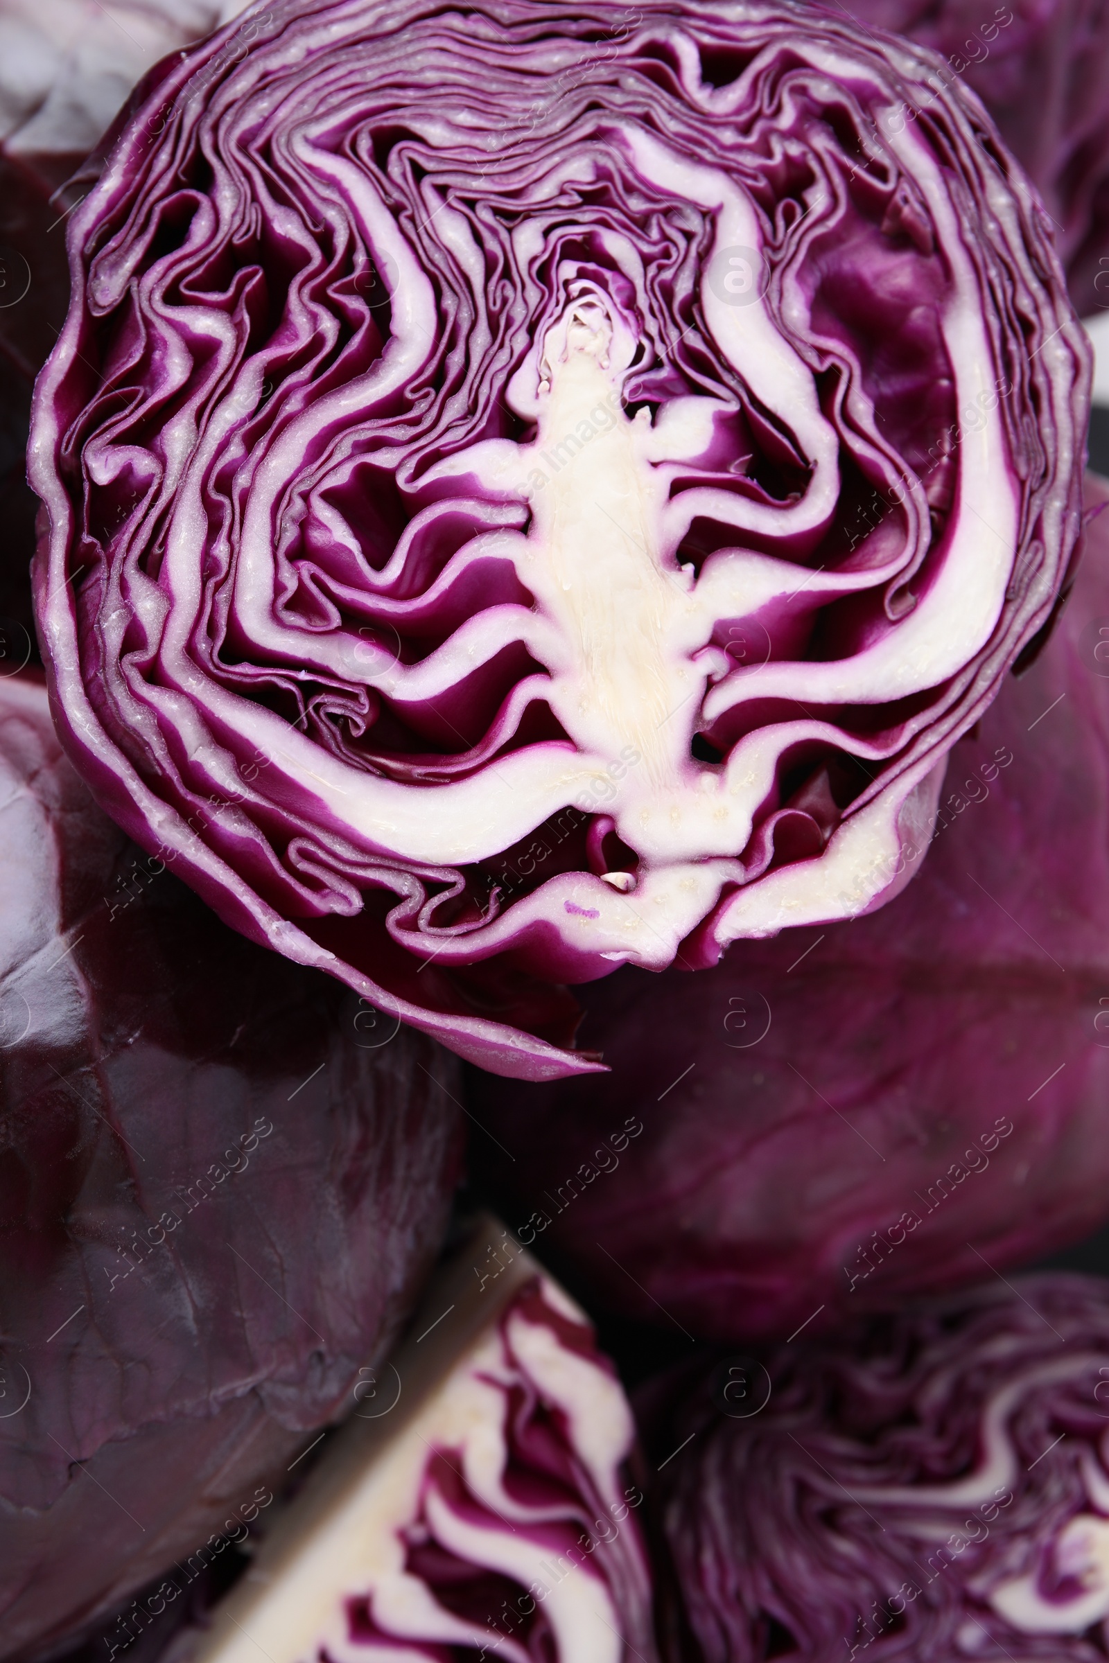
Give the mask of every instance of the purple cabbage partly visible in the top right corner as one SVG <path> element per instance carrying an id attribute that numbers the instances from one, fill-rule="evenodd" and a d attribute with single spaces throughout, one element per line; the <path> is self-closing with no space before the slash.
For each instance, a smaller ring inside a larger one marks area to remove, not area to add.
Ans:
<path id="1" fill-rule="evenodd" d="M 983 100 L 1056 228 L 1079 316 L 1109 304 L 1109 12 L 1102 0 L 851 0 Z"/>

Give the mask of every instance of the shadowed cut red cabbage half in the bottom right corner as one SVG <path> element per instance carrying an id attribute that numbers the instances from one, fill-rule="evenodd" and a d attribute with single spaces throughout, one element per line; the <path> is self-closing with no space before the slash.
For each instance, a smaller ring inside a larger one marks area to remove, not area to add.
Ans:
<path id="1" fill-rule="evenodd" d="M 1106 1655 L 1109 1284 L 988 1281 L 762 1369 L 653 1387 L 675 1663 Z"/>

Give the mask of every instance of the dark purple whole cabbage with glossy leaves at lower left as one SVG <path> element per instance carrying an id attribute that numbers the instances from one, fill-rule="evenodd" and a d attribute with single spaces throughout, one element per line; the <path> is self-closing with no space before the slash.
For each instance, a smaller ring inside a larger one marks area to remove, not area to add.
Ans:
<path id="1" fill-rule="evenodd" d="M 0 679 L 10 1660 L 258 1517 L 392 1344 L 457 1169 L 454 1059 L 166 861 L 95 807 L 45 687 Z"/>

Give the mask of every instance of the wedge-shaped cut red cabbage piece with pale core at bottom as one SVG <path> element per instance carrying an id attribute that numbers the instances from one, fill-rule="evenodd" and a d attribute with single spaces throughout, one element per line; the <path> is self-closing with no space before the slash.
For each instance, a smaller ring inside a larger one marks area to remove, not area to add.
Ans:
<path id="1" fill-rule="evenodd" d="M 632 1410 L 505 1231 L 479 1231 L 366 1374 L 196 1663 L 652 1663 Z"/>

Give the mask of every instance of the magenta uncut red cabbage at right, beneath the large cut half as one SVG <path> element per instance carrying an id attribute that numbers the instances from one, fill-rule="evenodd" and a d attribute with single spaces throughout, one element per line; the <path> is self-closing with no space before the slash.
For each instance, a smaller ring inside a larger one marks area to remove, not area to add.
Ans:
<path id="1" fill-rule="evenodd" d="M 474 1074 L 502 1146 L 474 1174 L 572 1287 L 672 1334 L 788 1335 L 1109 1217 L 1109 509 L 923 853 L 871 918 L 590 988 L 607 1079 Z"/>

